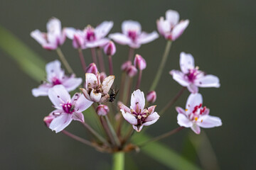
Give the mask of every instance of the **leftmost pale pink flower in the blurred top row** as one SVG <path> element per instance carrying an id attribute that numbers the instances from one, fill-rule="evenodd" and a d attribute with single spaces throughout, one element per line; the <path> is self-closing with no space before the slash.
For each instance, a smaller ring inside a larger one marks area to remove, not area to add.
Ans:
<path id="1" fill-rule="evenodd" d="M 33 30 L 31 37 L 34 38 L 43 48 L 55 50 L 65 42 L 65 31 L 61 30 L 61 23 L 58 18 L 50 18 L 47 25 L 47 33 L 40 30 Z"/>

